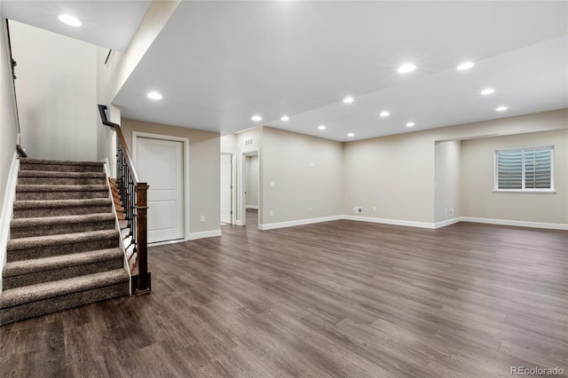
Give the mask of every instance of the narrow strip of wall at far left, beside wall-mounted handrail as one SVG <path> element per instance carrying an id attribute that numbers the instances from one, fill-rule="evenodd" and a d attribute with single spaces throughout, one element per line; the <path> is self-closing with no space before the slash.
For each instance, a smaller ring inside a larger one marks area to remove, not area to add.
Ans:
<path id="1" fill-rule="evenodd" d="M 5 20 L 0 19 L 0 21 L 2 21 L 0 28 L 0 209 L 2 209 L 10 165 L 16 151 L 18 127 L 12 94 L 10 56 L 5 40 Z"/>

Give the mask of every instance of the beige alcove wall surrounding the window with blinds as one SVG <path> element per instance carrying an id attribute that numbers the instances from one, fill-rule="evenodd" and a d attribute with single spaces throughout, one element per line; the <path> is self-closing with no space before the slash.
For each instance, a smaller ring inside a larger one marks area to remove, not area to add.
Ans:
<path id="1" fill-rule="evenodd" d="M 551 145 L 556 193 L 493 193 L 495 150 Z M 461 142 L 461 194 L 464 217 L 568 224 L 568 129 Z"/>

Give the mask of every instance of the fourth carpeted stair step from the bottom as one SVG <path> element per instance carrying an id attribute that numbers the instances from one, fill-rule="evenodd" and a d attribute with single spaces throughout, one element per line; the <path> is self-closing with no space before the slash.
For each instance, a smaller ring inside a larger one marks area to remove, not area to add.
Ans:
<path id="1" fill-rule="evenodd" d="M 65 217 L 17 218 L 12 219 L 10 225 L 10 237 L 21 239 L 63 233 L 112 230 L 116 221 L 113 213 L 105 213 Z"/>

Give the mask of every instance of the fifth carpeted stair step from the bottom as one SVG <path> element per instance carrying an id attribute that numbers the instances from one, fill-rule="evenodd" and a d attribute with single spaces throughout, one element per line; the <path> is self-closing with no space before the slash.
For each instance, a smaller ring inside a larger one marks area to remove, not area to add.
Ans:
<path id="1" fill-rule="evenodd" d="M 93 213 L 109 213 L 113 209 L 110 198 L 88 200 L 14 201 L 13 217 L 59 217 Z"/>

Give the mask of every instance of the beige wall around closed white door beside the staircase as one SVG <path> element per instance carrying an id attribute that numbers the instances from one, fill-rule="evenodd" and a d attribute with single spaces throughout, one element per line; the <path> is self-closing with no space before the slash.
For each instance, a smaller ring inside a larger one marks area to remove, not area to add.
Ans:
<path id="1" fill-rule="evenodd" d="M 132 150 L 132 131 L 189 139 L 189 231 L 219 230 L 220 143 L 216 132 L 122 119 L 124 138 Z M 200 222 L 200 216 L 205 222 Z"/>

